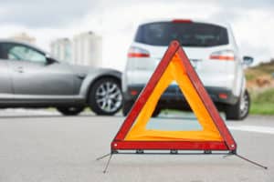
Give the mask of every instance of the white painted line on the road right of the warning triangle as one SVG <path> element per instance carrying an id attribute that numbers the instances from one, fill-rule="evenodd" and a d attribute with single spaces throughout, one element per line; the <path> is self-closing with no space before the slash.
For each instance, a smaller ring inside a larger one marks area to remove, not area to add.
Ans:
<path id="1" fill-rule="evenodd" d="M 274 127 L 270 127 L 270 126 L 228 126 L 228 128 L 232 130 L 274 135 Z"/>

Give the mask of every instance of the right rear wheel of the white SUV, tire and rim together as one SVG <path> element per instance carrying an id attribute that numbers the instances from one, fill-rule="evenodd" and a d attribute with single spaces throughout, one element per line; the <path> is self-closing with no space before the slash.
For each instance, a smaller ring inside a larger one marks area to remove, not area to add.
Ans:
<path id="1" fill-rule="evenodd" d="M 233 106 L 227 106 L 226 116 L 229 120 L 243 120 L 248 116 L 250 107 L 250 96 L 248 91 L 245 90 L 243 96 Z"/>

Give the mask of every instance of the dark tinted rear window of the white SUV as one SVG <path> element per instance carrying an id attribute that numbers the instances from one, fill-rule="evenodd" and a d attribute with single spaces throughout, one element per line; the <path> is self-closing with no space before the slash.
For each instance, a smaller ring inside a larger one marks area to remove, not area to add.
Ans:
<path id="1" fill-rule="evenodd" d="M 202 23 L 157 22 L 140 25 L 135 42 L 147 45 L 169 45 L 178 40 L 184 46 L 227 45 L 227 29 Z"/>

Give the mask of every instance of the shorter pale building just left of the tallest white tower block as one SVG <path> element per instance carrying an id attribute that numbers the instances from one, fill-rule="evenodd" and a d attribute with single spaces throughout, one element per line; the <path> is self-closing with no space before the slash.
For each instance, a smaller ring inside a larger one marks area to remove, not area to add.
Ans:
<path id="1" fill-rule="evenodd" d="M 71 41 L 68 38 L 59 38 L 50 44 L 51 55 L 61 61 L 72 62 Z"/>

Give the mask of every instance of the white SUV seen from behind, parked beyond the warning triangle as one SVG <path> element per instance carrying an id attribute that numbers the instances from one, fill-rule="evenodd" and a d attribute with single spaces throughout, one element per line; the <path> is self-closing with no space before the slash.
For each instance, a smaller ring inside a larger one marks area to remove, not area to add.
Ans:
<path id="1" fill-rule="evenodd" d="M 232 30 L 226 23 L 185 19 L 139 25 L 122 76 L 123 115 L 132 108 L 172 40 L 182 44 L 205 89 L 216 107 L 226 112 L 227 119 L 248 116 L 250 99 L 243 63 L 250 64 L 253 58 L 240 56 Z M 175 83 L 163 93 L 153 116 L 165 108 L 189 109 Z"/>

